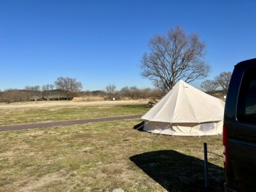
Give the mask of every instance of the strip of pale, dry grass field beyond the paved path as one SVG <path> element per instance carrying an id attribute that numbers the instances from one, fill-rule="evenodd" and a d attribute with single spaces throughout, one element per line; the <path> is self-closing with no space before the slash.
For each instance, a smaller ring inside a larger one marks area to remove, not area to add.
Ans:
<path id="1" fill-rule="evenodd" d="M 0 126 L 140 115 L 148 111 L 146 101 L 26 102 L 0 105 Z"/>

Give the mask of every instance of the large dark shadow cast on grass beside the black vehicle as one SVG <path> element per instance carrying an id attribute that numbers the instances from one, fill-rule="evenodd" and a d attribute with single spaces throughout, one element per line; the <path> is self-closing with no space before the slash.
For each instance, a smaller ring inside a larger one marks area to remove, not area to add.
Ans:
<path id="1" fill-rule="evenodd" d="M 167 191 L 224 191 L 224 169 L 209 163 L 209 188 L 205 189 L 204 161 L 196 157 L 159 150 L 130 159 Z"/>

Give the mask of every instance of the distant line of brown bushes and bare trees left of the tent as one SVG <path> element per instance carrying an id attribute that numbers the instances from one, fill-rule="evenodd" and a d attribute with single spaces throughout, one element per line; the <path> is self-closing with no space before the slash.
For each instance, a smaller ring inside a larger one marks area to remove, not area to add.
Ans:
<path id="1" fill-rule="evenodd" d="M 103 97 L 104 100 L 115 98 L 122 99 L 147 99 L 154 97 L 161 98 L 161 93 L 152 88 L 137 88 L 136 86 L 125 86 L 121 90 L 116 90 L 109 95 L 105 90 L 86 90 L 84 92 L 72 92 L 61 89 L 40 89 L 40 86 L 27 86 L 26 89 L 8 89 L 0 91 L 0 102 L 25 102 L 38 100 L 72 100 L 74 97 Z"/>

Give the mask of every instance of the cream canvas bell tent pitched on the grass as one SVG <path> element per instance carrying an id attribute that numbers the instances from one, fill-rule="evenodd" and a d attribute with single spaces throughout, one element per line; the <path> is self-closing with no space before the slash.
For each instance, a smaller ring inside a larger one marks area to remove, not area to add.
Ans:
<path id="1" fill-rule="evenodd" d="M 141 118 L 144 131 L 177 136 L 222 133 L 225 102 L 179 81 Z"/>

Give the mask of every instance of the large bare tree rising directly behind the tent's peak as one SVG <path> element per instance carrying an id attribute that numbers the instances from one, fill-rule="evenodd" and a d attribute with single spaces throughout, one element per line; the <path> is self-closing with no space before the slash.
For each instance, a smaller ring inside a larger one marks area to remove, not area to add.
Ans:
<path id="1" fill-rule="evenodd" d="M 163 84 L 166 90 L 172 90 L 177 81 L 187 83 L 207 77 L 210 66 L 204 61 L 205 43 L 198 35 L 177 26 L 170 28 L 167 35 L 154 36 L 149 44 L 149 53 L 141 60 L 142 77 Z"/>

